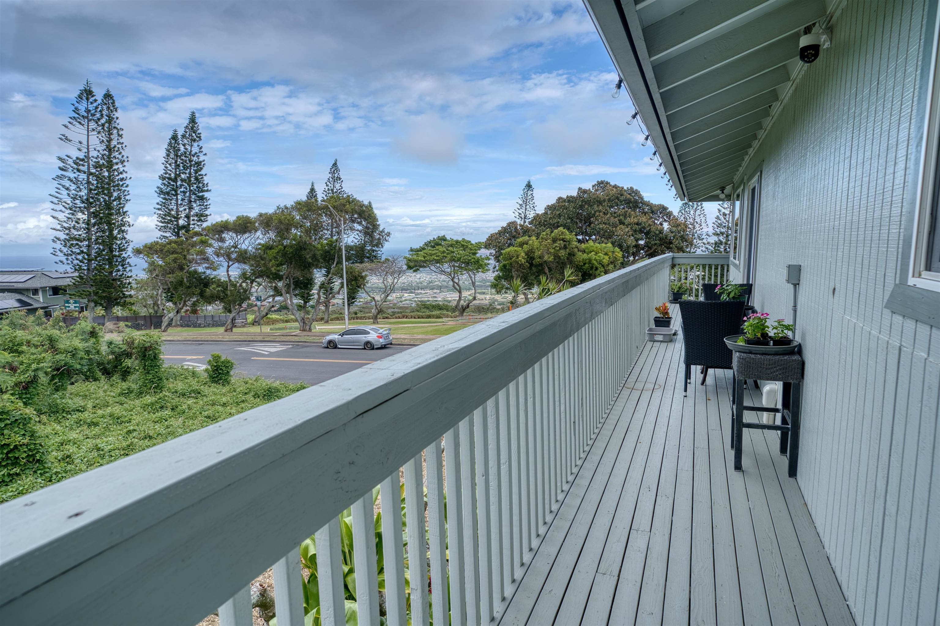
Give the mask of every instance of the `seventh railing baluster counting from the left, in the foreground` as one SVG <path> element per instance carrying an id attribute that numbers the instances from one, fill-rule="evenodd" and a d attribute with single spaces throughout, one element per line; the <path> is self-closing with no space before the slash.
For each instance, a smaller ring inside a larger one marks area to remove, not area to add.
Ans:
<path id="1" fill-rule="evenodd" d="M 428 480 L 428 537 L 431 543 L 431 621 L 447 623 L 447 558 L 444 525 L 444 476 L 441 467 L 441 440 L 434 438 L 424 448 Z M 373 622 L 367 621 L 367 624 Z M 375 623 L 378 623 L 376 621 Z"/>

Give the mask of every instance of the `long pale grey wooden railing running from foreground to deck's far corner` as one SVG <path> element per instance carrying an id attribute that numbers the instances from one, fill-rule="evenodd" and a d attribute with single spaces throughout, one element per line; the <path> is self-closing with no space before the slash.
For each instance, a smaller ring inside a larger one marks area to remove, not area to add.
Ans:
<path id="1" fill-rule="evenodd" d="M 354 608 L 377 624 L 375 485 L 387 622 L 403 626 L 409 605 L 415 625 L 498 619 L 666 297 L 672 257 L 0 505 L 0 623 L 195 624 L 218 607 L 222 626 L 247 625 L 248 585 L 274 563 L 277 624 L 301 625 L 298 545 L 314 533 L 318 617 L 342 624 L 337 516 L 351 507 Z M 421 546 L 407 560 L 399 467 L 407 552 Z"/>

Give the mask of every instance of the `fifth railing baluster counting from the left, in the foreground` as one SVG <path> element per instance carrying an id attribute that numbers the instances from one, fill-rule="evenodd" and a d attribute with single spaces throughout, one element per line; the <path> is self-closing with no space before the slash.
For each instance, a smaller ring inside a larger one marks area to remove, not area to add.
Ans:
<path id="1" fill-rule="evenodd" d="M 401 479 L 396 471 L 379 486 L 382 498 L 382 556 L 385 567 L 385 618 L 405 626 L 405 551 L 401 540 Z"/>

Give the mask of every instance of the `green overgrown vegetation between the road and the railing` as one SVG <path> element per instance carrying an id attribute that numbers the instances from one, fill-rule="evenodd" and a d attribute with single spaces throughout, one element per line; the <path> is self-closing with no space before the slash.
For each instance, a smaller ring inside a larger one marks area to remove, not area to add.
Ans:
<path id="1" fill-rule="evenodd" d="M 206 373 L 164 366 L 160 352 L 153 332 L 116 341 L 84 320 L 70 327 L 22 313 L 0 320 L 0 501 L 305 386 L 261 378 L 213 384 Z"/>

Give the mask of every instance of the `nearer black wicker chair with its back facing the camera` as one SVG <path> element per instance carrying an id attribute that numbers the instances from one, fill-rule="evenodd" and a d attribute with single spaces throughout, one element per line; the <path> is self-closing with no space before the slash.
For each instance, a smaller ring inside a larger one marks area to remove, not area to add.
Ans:
<path id="1" fill-rule="evenodd" d="M 725 337 L 741 334 L 744 302 L 681 300 L 679 310 L 685 345 L 685 380 L 682 382 L 682 394 L 685 395 L 692 379 L 692 366 L 703 368 L 701 384 L 705 384 L 709 368 L 731 369 L 732 352 L 725 345 Z"/>

